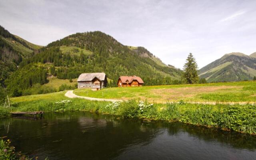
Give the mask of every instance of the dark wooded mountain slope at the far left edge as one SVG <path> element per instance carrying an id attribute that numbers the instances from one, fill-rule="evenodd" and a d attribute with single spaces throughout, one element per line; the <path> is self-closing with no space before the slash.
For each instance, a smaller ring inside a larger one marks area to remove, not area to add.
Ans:
<path id="1" fill-rule="evenodd" d="M 32 44 L 0 26 L 0 84 L 17 69 L 22 59 L 42 46 Z"/>

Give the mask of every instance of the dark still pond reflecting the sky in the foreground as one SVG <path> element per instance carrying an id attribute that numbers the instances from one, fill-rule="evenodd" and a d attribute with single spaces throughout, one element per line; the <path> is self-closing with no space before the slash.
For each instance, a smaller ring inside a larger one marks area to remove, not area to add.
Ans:
<path id="1" fill-rule="evenodd" d="M 255 160 L 256 136 L 90 112 L 0 120 L 0 136 L 39 160 Z"/>

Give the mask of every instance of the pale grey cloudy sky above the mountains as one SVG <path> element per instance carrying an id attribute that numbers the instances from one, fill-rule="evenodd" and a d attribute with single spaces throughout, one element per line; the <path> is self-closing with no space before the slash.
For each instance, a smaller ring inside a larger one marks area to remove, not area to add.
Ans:
<path id="1" fill-rule="evenodd" d="M 256 52 L 255 8 L 256 0 L 1 0 L 0 25 L 43 46 L 99 30 L 176 68 L 191 52 L 202 68 Z"/>

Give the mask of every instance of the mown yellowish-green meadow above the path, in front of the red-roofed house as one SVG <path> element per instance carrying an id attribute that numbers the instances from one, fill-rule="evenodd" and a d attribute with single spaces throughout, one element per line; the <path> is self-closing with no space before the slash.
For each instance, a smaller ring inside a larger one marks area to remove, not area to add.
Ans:
<path id="1" fill-rule="evenodd" d="M 79 96 L 150 102 L 256 102 L 256 81 L 74 90 Z"/>

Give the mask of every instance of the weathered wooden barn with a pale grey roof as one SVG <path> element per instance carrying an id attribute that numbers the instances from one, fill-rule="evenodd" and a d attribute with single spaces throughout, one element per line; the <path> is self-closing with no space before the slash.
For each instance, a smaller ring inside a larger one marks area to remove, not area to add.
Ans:
<path id="1" fill-rule="evenodd" d="M 82 73 L 77 79 L 78 88 L 92 88 L 100 90 L 107 86 L 107 76 L 105 73 Z"/>

